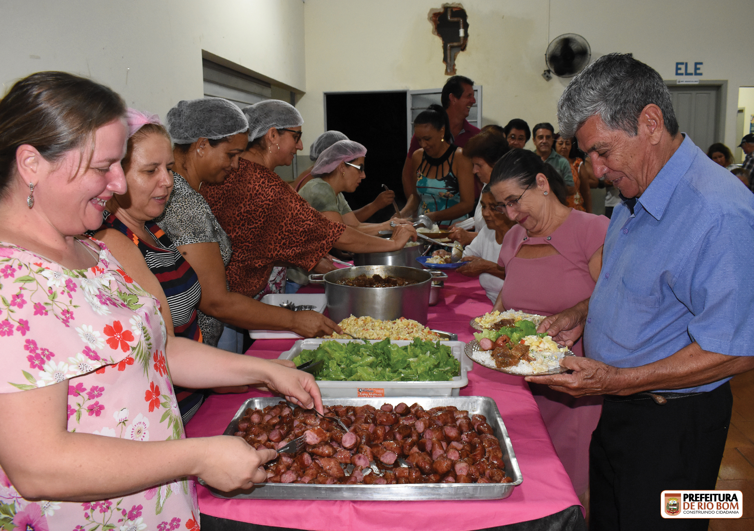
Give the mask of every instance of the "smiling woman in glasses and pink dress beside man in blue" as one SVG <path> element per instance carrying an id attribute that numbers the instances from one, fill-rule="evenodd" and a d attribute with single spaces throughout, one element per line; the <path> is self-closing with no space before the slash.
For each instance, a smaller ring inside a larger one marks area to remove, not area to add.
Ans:
<path id="1" fill-rule="evenodd" d="M 566 206 L 562 177 L 532 151 L 508 152 L 492 171 L 498 208 L 517 221 L 503 239 L 498 264 L 505 283 L 495 310 L 550 316 L 589 298 L 602 267 L 609 220 Z M 581 340 L 572 346 L 584 356 Z M 589 443 L 602 397 L 573 398 L 529 384 L 547 431 L 576 493 L 589 487 Z"/>

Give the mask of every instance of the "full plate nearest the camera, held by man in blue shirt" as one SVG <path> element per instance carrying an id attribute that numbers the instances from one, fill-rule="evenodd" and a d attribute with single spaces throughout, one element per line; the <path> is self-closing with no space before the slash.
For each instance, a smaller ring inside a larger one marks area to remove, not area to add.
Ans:
<path id="1" fill-rule="evenodd" d="M 493 343 L 494 344 L 494 343 Z M 512 346 L 512 348 L 510 348 Z M 528 347 L 528 348 L 525 348 Z M 565 346 L 555 343 L 549 336 L 526 336 L 515 345 L 495 345 L 483 350 L 480 341 L 466 343 L 464 353 L 474 362 L 493 371 L 516 376 L 547 376 L 561 374 L 569 369 L 560 366 L 566 356 L 575 356 Z"/>

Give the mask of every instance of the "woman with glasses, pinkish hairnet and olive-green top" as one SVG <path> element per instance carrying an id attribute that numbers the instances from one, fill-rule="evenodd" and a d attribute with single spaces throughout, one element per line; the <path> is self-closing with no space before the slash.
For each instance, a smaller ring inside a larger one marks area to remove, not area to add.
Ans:
<path id="1" fill-rule="evenodd" d="M 390 230 L 391 221 L 362 223 L 343 197 L 343 192 L 356 191 L 366 177 L 365 156 L 366 148 L 363 145 L 352 140 L 339 140 L 320 154 L 311 170 L 314 178 L 299 190 L 299 194 L 327 218 L 376 235 L 380 230 Z M 409 223 L 406 220 L 393 221 Z"/>

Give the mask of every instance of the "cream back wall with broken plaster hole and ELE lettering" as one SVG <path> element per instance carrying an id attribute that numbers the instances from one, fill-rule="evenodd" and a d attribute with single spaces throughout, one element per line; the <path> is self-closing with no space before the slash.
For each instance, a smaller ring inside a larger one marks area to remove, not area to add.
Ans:
<path id="1" fill-rule="evenodd" d="M 676 62 L 702 62 L 702 79 L 728 80 L 725 142 L 734 145 L 738 87 L 754 84 L 754 27 L 750 0 L 465 0 L 469 44 L 456 60 L 458 73 L 484 87 L 485 124 L 521 117 L 529 125 L 556 124 L 556 102 L 568 80 L 544 81 L 549 38 L 578 33 L 593 59 L 633 52 L 664 78 L 676 79 Z M 427 20 L 437 0 L 306 0 L 307 93 L 305 153 L 323 131 L 323 92 L 441 87 L 440 38 Z M 547 24 L 548 5 L 550 24 Z M 531 144 L 530 144 L 531 145 Z"/>

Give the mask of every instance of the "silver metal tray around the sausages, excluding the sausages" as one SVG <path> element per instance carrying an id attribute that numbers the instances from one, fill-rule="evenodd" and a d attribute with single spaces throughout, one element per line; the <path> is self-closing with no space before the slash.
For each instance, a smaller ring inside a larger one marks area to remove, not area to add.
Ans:
<path id="1" fill-rule="evenodd" d="M 247 408 L 262 408 L 275 405 L 280 398 L 249 398 L 231 420 L 223 435 L 233 435 L 238 432 L 238 421 L 244 417 Z M 452 405 L 460 410 L 468 410 L 469 416 L 482 414 L 492 426 L 495 437 L 500 441 L 505 462 L 505 473 L 513 479 L 513 483 L 438 483 L 438 484 L 402 484 L 402 485 L 309 485 L 309 484 L 281 484 L 260 483 L 250 490 L 234 490 L 223 493 L 210 488 L 210 492 L 217 498 L 224 499 L 348 499 L 348 500 L 440 500 L 440 499 L 503 499 L 510 496 L 513 488 L 523 481 L 521 469 L 516 461 L 516 453 L 510 443 L 505 424 L 500 416 L 497 404 L 486 396 L 458 396 L 421 398 L 415 396 L 390 398 L 325 398 L 325 405 L 342 404 L 345 406 L 361 406 L 371 404 L 379 408 L 385 402 L 396 405 L 400 402 L 413 404 L 414 402 L 425 409 L 431 407 Z"/>

